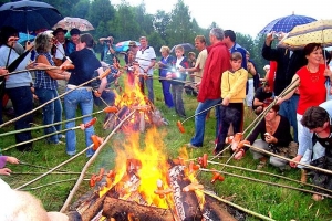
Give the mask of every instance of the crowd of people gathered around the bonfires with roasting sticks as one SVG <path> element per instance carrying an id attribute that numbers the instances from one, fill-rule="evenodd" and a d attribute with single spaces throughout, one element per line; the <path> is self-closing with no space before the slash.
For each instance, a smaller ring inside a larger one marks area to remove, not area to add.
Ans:
<path id="1" fill-rule="evenodd" d="M 76 135 L 71 128 L 75 127 L 77 107 L 85 116 L 83 124 L 89 124 L 92 120 L 90 115 L 94 104 L 113 105 L 115 94 L 110 86 L 116 82 L 122 71 L 116 69 L 118 59 L 114 38 L 100 39 L 103 45 L 100 61 L 94 53 L 94 39 L 91 34 L 81 34 L 80 30 L 72 29 L 71 40 L 66 40 L 66 32 L 61 28 L 52 34 L 41 32 L 35 36 L 34 44 L 27 43 L 22 50 L 18 44 L 18 31 L 11 27 L 3 27 L 0 30 L 0 75 L 4 75 L 4 92 L 13 104 L 15 116 L 24 116 L 15 122 L 15 129 L 31 126 L 33 114 L 25 113 L 32 110 L 35 94 L 39 104 L 44 105 L 42 122 L 50 125 L 45 127 L 44 134 L 52 134 L 46 141 L 58 145 L 63 144 L 61 139 L 65 139 L 65 152 L 74 156 Z M 262 86 L 255 61 L 250 60 L 250 52 L 236 42 L 232 30 L 224 31 L 219 28 L 210 30 L 210 45 L 207 45 L 205 36 L 195 38 L 195 46 L 199 52 L 197 59 L 195 53 L 189 53 L 187 57 L 181 45 L 175 46 L 175 56 L 167 45 L 163 45 L 159 50 L 162 59 L 157 61 L 155 50 L 148 44 L 146 36 L 139 38 L 139 46 L 134 41 L 131 42 L 125 56 L 126 83 L 133 88 L 137 85 L 154 104 L 153 76 L 157 67 L 165 106 L 174 109 L 180 118 L 187 117 L 183 94 L 185 85 L 189 84 L 197 93 L 198 104 L 195 110 L 195 133 L 187 147 L 197 149 L 204 146 L 206 118 L 209 110 L 215 108 L 216 156 L 222 155 L 228 145 L 229 134 L 243 131 L 245 112 L 256 115 L 263 113 L 264 116 L 257 127 L 249 131 L 248 138 L 241 140 L 236 148 L 231 148 L 234 158 L 243 158 L 249 150 L 248 145 L 252 145 L 289 159 L 250 149 L 253 159 L 259 159 L 258 169 L 266 167 L 268 161 L 282 171 L 290 165 L 301 168 L 301 180 L 304 180 L 308 168 L 303 164 L 331 169 L 332 101 L 329 101 L 329 97 L 332 94 L 332 72 L 326 66 L 331 54 L 325 53 L 318 43 L 310 43 L 297 51 L 273 49 L 273 33 L 269 33 L 262 45 L 262 57 L 271 61 L 264 66 L 268 76 Z M 34 52 L 33 63 L 29 63 L 31 51 Z M 70 64 L 74 65 L 73 69 L 66 70 Z M 30 72 L 24 71 L 29 67 L 40 69 L 35 72 L 34 81 Z M 111 69 L 111 74 L 98 78 L 105 69 Z M 13 71 L 21 72 L 7 75 Z M 97 80 L 95 85 L 92 83 L 93 78 Z M 64 108 L 58 93 L 58 80 L 66 81 Z M 63 109 L 68 129 L 65 134 L 56 133 L 62 130 Z M 85 128 L 84 133 L 85 145 L 89 147 L 92 145 L 93 126 Z M 17 144 L 24 143 L 19 145 L 18 149 L 32 150 L 33 144 L 29 143 L 31 139 L 31 131 L 15 134 Z M 93 154 L 94 150 L 90 148 L 86 157 Z M 15 158 L 6 159 L 17 164 Z M 3 161 L 0 158 L 0 162 L 1 160 Z M 10 170 L 4 168 L 0 169 L 0 172 L 7 175 Z M 313 182 L 332 189 L 331 178 L 315 171 Z M 314 194 L 313 199 L 323 198 Z"/>

